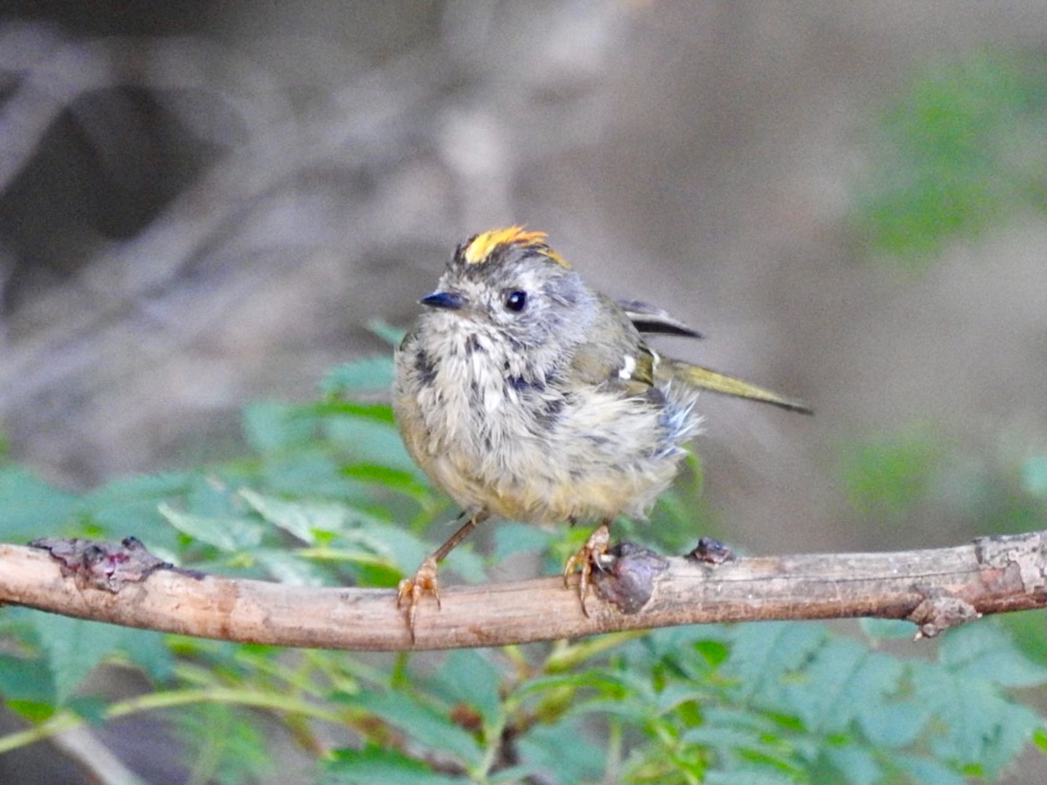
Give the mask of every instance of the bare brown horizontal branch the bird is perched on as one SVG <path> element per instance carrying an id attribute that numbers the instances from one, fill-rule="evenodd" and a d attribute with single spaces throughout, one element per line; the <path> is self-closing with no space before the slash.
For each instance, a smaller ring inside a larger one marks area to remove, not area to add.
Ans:
<path id="1" fill-rule="evenodd" d="M 623 543 L 594 576 L 598 597 L 588 598 L 588 616 L 574 585 L 567 590 L 559 578 L 455 586 L 441 591 L 442 609 L 423 599 L 413 645 L 393 589 L 202 576 L 160 563 L 135 541 L 125 548 L 86 543 L 72 547 L 74 557 L 55 543 L 85 541 L 47 541 L 53 556 L 46 547 L 0 544 L 0 603 L 274 646 L 450 649 L 705 622 L 853 616 L 907 619 L 918 625 L 917 635 L 931 636 L 984 613 L 1047 607 L 1047 532 L 950 548 L 721 564 L 664 559 Z M 76 561 L 84 551 L 93 565 Z M 153 561 L 140 561 L 141 554 Z M 137 567 L 121 573 L 121 562 Z"/>

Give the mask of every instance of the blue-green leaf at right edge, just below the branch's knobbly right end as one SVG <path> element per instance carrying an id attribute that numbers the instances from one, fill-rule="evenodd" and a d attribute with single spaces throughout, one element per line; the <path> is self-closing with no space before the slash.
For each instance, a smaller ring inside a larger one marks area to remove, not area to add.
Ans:
<path id="1" fill-rule="evenodd" d="M 1047 668 L 1023 656 L 1009 636 L 990 620 L 949 630 L 938 650 L 941 664 L 960 677 L 1001 687 L 1034 687 L 1047 682 Z"/>

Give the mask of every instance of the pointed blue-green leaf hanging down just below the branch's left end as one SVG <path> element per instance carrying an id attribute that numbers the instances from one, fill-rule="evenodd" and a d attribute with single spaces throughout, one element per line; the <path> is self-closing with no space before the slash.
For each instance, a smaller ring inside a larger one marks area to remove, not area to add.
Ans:
<path id="1" fill-rule="evenodd" d="M 66 702 L 84 678 L 110 652 L 121 648 L 127 630 L 101 622 L 30 614 L 40 643 L 47 653 L 47 665 L 54 681 L 58 703 Z"/>

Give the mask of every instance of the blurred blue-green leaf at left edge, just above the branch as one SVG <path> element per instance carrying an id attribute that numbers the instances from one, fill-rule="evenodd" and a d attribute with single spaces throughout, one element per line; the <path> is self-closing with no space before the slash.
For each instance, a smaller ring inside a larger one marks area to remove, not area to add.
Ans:
<path id="1" fill-rule="evenodd" d="M 28 540 L 62 529 L 79 499 L 28 469 L 0 466 L 0 538 Z"/>

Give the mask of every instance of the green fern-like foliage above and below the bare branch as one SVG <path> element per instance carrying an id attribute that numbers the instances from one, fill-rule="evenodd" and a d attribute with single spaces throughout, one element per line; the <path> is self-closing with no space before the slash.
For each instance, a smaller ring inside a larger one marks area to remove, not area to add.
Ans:
<path id="1" fill-rule="evenodd" d="M 289 584 L 393 586 L 452 517 L 371 391 L 386 358 L 350 363 L 309 404 L 244 416 L 250 454 L 86 494 L 0 467 L 0 536 L 135 535 L 183 566 Z M 692 464 L 690 485 L 699 485 Z M 1033 484 L 1034 485 L 1034 484 Z M 678 493 L 689 493 L 682 488 Z M 691 503 L 636 536 L 678 548 Z M 693 531 L 693 530 L 692 530 Z M 584 534 L 584 533 L 582 533 Z M 482 581 L 534 554 L 555 569 L 572 537 L 500 522 L 490 555 L 448 571 Z M 918 647 L 906 623 L 694 626 L 414 659 L 288 652 L 0 609 L 0 697 L 39 737 L 155 713 L 191 782 L 267 781 L 273 734 L 350 783 L 965 783 L 992 781 L 1030 744 L 1047 752 L 1047 669 L 993 622 Z M 134 670 L 132 697 L 93 692 L 98 667 Z M 267 717 L 260 722 L 260 716 Z M 308 767 L 308 765 L 307 765 Z"/>

